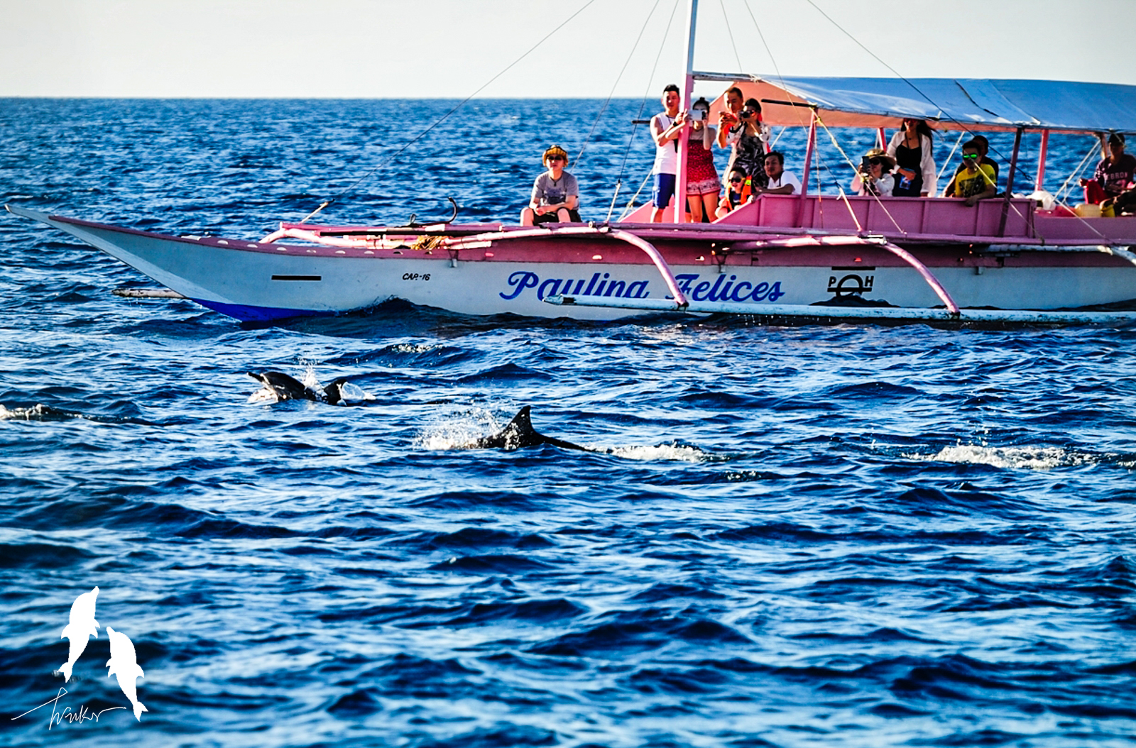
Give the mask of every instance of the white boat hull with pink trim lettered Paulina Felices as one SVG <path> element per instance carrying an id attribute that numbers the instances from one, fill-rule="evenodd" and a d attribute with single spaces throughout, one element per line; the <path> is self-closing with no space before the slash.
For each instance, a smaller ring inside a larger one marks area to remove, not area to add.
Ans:
<path id="1" fill-rule="evenodd" d="M 608 320 L 642 309 L 558 306 L 552 296 L 670 299 L 651 260 L 602 235 L 483 242 L 441 251 L 387 244 L 335 249 L 166 236 L 12 212 L 42 220 L 122 260 L 182 295 L 229 317 L 267 321 L 335 314 L 401 299 L 467 314 L 515 313 Z M 642 230 L 651 230 L 643 228 Z M 762 306 L 876 302 L 932 308 L 942 302 L 902 260 L 869 245 L 713 253 L 718 241 L 690 232 L 653 237 L 693 302 Z M 1022 247 L 913 249 L 960 306 L 1071 309 L 1136 299 L 1136 264 L 1100 252 Z"/>

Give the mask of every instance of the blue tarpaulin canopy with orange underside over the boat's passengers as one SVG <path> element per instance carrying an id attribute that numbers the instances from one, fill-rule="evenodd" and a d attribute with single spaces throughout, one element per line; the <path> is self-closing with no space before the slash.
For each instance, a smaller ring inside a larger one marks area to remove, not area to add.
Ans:
<path id="1" fill-rule="evenodd" d="M 808 126 L 809 110 L 828 127 L 899 127 L 904 117 L 938 129 L 1136 132 L 1136 86 L 1068 81 L 976 78 L 783 78 L 695 73 L 729 82 L 761 101 L 766 123 Z M 711 110 L 725 107 L 724 96 Z"/>

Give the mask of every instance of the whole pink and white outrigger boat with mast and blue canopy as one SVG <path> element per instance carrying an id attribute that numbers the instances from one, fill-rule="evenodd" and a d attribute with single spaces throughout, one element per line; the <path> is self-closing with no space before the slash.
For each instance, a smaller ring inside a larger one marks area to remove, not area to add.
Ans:
<path id="1" fill-rule="evenodd" d="M 1117 325 L 1136 320 L 1136 217 L 1083 218 L 1013 196 L 1025 133 L 1136 132 L 1136 86 L 1051 81 L 769 78 L 693 69 L 737 85 L 772 126 L 1014 133 L 1002 197 L 761 195 L 712 224 L 623 220 L 538 228 L 281 224 L 259 241 L 167 236 L 8 210 L 64 230 L 162 286 L 247 321 L 335 314 L 401 299 L 467 314 L 617 319 L 644 312 L 893 321 Z M 727 86 L 724 86 L 727 87 Z M 722 107 L 713 102 L 711 116 Z M 683 140 L 686 134 L 684 132 Z M 679 157 L 685 153 L 685 142 Z M 677 194 L 684 194 L 679 162 Z M 1124 310 L 1124 311 L 1117 311 Z"/>

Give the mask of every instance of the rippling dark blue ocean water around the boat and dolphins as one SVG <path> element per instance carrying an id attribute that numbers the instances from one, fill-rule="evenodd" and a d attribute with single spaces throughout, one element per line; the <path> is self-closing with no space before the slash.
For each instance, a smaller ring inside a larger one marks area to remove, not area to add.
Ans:
<path id="1" fill-rule="evenodd" d="M 3 100 L 0 194 L 259 238 L 453 103 Z M 320 220 L 513 219 L 602 103 L 474 101 Z M 571 168 L 585 218 L 646 174 L 638 114 Z M 1091 145 L 1054 136 L 1051 191 Z M 1136 745 L 1131 328 L 242 327 L 8 213 L 0 246 L 2 745 Z M 373 400 L 250 403 L 267 369 Z M 524 405 L 599 451 L 454 448 Z"/>

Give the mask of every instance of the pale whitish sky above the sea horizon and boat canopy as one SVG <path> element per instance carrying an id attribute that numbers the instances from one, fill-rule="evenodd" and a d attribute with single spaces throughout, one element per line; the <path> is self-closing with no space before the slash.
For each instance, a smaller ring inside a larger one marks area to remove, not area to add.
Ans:
<path id="1" fill-rule="evenodd" d="M 905 77 L 1136 84 L 1136 0 L 812 1 Z M 0 0 L 0 96 L 465 98 L 585 5 Z M 607 96 L 657 6 L 615 89 L 655 98 L 684 68 L 687 0 L 663 37 L 675 5 L 594 0 L 478 95 Z M 738 59 L 758 74 L 893 75 L 808 0 L 701 0 L 695 68 L 734 73 Z"/>

